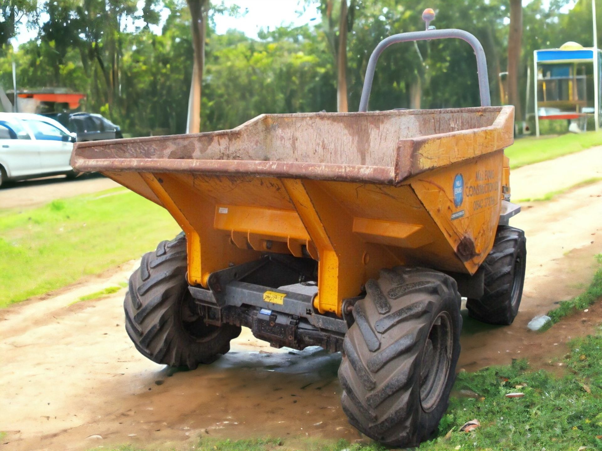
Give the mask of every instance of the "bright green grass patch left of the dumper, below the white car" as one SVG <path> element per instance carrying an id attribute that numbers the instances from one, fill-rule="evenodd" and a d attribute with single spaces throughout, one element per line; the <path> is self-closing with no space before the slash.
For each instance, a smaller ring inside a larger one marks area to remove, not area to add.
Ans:
<path id="1" fill-rule="evenodd" d="M 138 258 L 178 232 L 166 210 L 123 188 L 0 210 L 0 307 Z"/>

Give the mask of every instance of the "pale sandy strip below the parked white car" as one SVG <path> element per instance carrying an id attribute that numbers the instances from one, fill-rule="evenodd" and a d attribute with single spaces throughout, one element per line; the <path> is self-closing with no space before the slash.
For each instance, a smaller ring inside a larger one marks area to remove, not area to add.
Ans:
<path id="1" fill-rule="evenodd" d="M 82 175 L 67 180 L 63 175 L 9 184 L 0 189 L 0 208 L 36 207 L 54 199 L 95 193 L 119 186 L 102 175 Z"/>

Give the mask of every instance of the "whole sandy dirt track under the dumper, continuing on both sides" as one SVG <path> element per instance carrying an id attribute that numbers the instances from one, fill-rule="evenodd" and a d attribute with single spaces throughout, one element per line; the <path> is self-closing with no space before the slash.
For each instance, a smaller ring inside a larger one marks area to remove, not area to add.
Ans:
<path id="1" fill-rule="evenodd" d="M 592 256 L 602 252 L 602 183 L 523 208 L 513 223 L 528 237 L 521 311 L 509 327 L 488 327 L 464 312 L 459 368 L 473 371 L 521 357 L 536 366 L 555 365 L 571 336 L 602 321 L 597 305 L 544 334 L 526 329 L 533 316 L 590 282 Z M 340 408 L 339 354 L 273 350 L 245 330 L 213 365 L 173 373 L 131 345 L 123 327 L 125 290 L 69 305 L 126 280 L 136 265 L 0 310 L 3 450 L 122 443 L 179 448 L 199 436 L 359 438 Z"/>

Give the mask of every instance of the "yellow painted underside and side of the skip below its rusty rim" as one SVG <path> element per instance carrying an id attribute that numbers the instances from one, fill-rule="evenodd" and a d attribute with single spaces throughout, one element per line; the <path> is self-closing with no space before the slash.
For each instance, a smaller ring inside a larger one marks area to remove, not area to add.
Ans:
<path id="1" fill-rule="evenodd" d="M 464 196 L 456 206 L 458 174 Z M 209 274 L 261 252 L 302 256 L 305 247 L 319 262 L 315 307 L 341 315 L 342 300 L 358 295 L 382 268 L 477 270 L 500 214 L 503 152 L 480 157 L 479 165 L 468 160 L 433 169 L 398 187 L 167 173 L 141 178 L 187 235 L 188 282 L 206 286 Z"/>

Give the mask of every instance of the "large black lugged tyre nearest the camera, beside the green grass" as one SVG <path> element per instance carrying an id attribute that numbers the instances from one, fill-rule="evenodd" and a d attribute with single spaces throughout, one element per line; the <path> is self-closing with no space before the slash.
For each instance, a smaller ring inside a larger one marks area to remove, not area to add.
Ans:
<path id="1" fill-rule="evenodd" d="M 388 446 L 418 446 L 447 409 L 460 354 L 455 280 L 424 268 L 382 270 L 353 307 L 338 375 L 349 422 Z"/>

